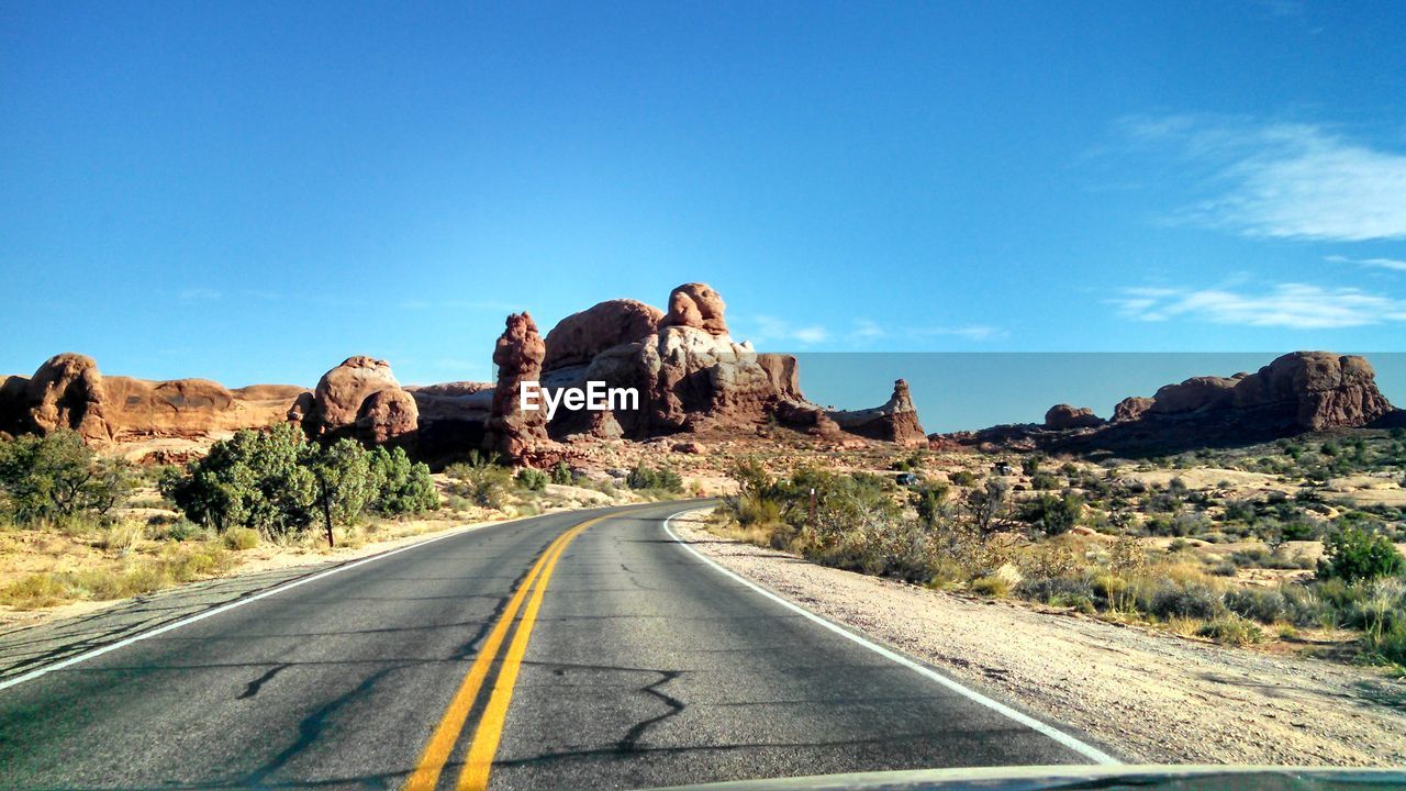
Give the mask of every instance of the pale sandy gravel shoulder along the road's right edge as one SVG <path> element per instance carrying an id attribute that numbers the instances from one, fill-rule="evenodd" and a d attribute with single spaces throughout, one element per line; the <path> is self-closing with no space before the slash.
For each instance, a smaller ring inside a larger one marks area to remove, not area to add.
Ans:
<path id="1" fill-rule="evenodd" d="M 1402 766 L 1406 683 L 920 588 L 706 532 L 681 539 L 807 609 L 1144 763 Z"/>

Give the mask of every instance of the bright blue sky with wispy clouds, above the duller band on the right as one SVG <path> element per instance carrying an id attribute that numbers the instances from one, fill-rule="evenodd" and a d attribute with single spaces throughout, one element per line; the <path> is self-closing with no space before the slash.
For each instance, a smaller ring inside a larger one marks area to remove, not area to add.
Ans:
<path id="1" fill-rule="evenodd" d="M 1399 3 L 0 3 L 0 372 L 1406 350 Z M 1229 372 L 1226 372 L 1229 373 Z M 821 383 L 824 387 L 824 383 Z"/>

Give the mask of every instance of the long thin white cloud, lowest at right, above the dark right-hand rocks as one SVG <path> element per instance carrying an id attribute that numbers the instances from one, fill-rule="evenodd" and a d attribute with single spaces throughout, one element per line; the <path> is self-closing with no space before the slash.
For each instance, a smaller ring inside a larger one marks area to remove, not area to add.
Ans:
<path id="1" fill-rule="evenodd" d="M 1189 318 L 1243 327 L 1339 329 L 1406 321 L 1406 301 L 1358 289 L 1278 283 L 1261 291 L 1232 289 L 1125 289 L 1108 300 L 1139 321 Z"/>

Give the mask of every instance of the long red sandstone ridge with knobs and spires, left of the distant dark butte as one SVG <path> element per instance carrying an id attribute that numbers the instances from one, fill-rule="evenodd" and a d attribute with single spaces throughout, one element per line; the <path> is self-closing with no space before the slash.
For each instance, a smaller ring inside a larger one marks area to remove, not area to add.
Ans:
<path id="1" fill-rule="evenodd" d="M 731 336 L 727 305 L 709 286 L 673 289 L 668 307 L 609 300 L 564 318 L 546 338 L 530 315 L 510 315 L 494 350 L 495 383 L 401 387 L 385 360 L 353 356 L 312 391 L 229 390 L 200 379 L 104 379 L 91 359 L 59 355 L 32 377 L 0 381 L 0 431 L 69 426 L 93 443 L 142 446 L 139 457 L 176 459 L 240 428 L 291 421 L 312 438 L 395 442 L 434 462 L 492 449 L 530 463 L 569 455 L 553 439 L 644 441 L 707 431 L 755 436 L 776 422 L 837 442 L 921 441 L 903 380 L 882 407 L 827 410 L 801 393 L 796 357 L 758 353 Z M 519 408 L 519 386 L 527 380 L 548 388 L 586 381 L 633 388 L 638 405 L 561 407 L 548 426 L 546 410 Z"/>

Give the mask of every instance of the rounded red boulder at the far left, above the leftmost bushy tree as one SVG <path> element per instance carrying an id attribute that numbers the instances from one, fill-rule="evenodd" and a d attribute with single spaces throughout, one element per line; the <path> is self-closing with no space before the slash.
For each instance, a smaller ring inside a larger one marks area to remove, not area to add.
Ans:
<path id="1" fill-rule="evenodd" d="M 49 357 L 25 383 L 25 404 L 31 431 L 67 428 L 90 443 L 112 441 L 103 374 L 93 357 L 72 352 Z"/>

